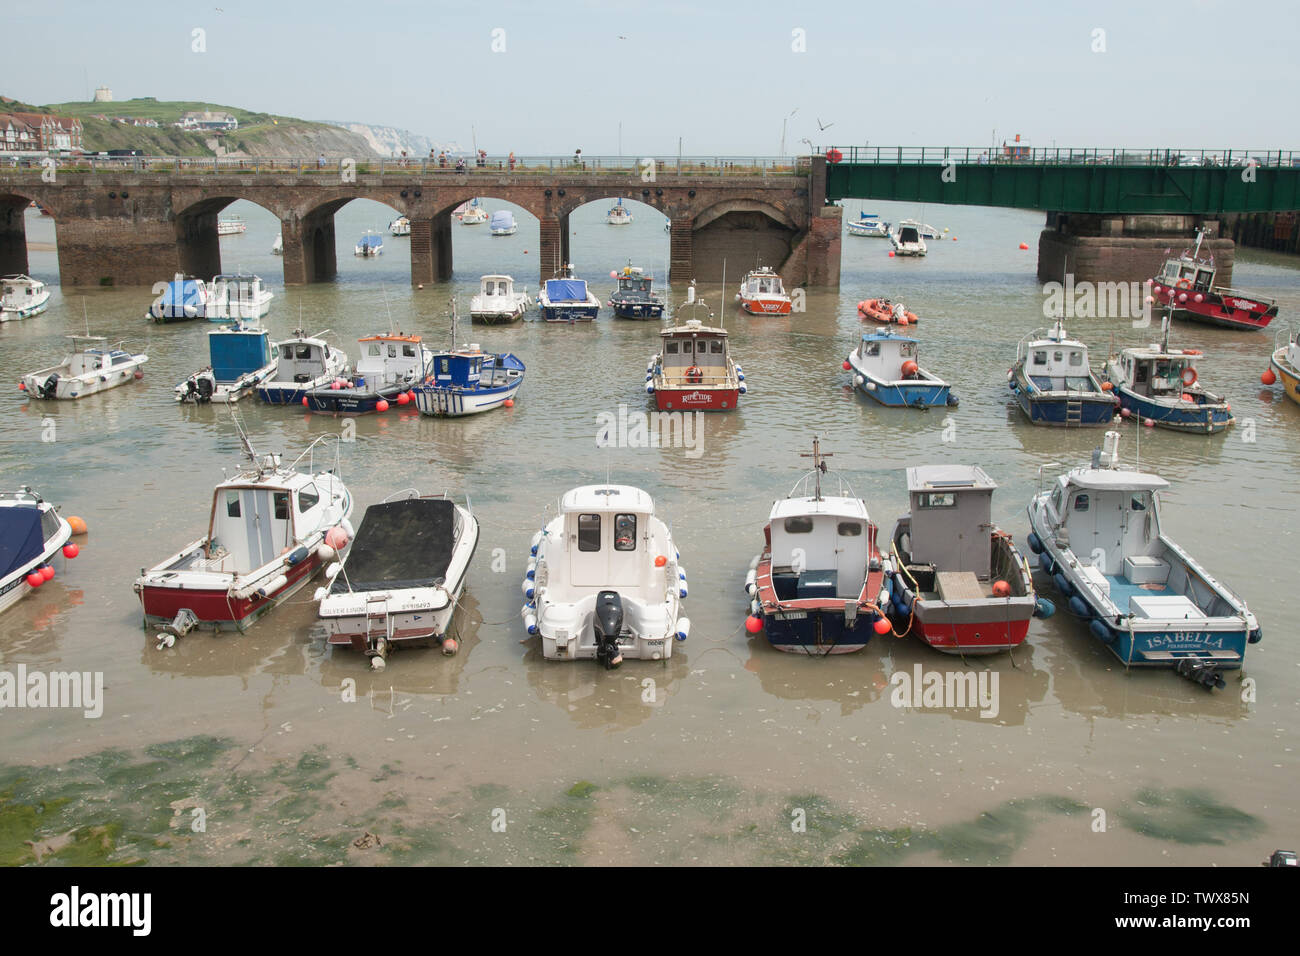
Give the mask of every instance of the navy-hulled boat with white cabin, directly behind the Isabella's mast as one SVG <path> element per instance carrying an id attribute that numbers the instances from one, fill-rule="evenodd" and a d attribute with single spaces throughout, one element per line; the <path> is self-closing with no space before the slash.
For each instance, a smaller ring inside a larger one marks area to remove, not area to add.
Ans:
<path id="1" fill-rule="evenodd" d="M 1109 424 L 1117 399 L 1088 365 L 1088 346 L 1066 336 L 1061 319 L 1020 339 L 1008 384 L 1035 425 Z"/>

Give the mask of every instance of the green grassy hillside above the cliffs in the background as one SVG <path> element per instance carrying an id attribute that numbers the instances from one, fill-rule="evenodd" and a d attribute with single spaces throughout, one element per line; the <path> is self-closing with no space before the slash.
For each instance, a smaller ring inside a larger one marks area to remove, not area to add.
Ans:
<path id="1" fill-rule="evenodd" d="M 214 138 L 212 133 L 187 133 L 172 126 L 190 112 L 209 111 L 230 113 L 239 121 L 239 129 Z M 217 103 L 159 101 L 152 96 L 113 103 L 48 103 L 27 105 L 0 103 L 0 113 L 55 113 L 82 121 L 84 144 L 88 152 L 100 150 L 143 150 L 152 156 L 213 156 L 209 142 L 225 147 L 228 152 L 254 156 L 299 156 L 324 152 L 329 157 L 370 157 L 373 151 L 361 137 L 328 124 L 298 120 L 291 116 L 257 113 Z M 107 116 L 109 120 L 95 120 Z M 112 117 L 126 116 L 157 120 L 159 127 L 126 126 Z"/>

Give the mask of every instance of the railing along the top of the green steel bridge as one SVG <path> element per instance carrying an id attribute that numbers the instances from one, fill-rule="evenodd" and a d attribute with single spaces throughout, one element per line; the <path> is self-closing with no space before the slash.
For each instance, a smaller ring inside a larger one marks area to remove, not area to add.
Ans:
<path id="1" fill-rule="evenodd" d="M 832 163 L 861 165 L 1115 165 L 1115 166 L 1300 166 L 1292 150 L 1097 150 L 1082 147 L 1034 148 L 1019 143 L 1002 146 L 841 146 L 819 148 Z M 835 152 L 840 157 L 833 156 Z"/>

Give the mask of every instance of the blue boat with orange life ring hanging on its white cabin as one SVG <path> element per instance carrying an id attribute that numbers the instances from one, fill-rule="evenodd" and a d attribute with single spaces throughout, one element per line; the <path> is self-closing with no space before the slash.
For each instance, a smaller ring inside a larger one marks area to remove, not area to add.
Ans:
<path id="1" fill-rule="evenodd" d="M 1122 415 L 1138 415 L 1175 432 L 1217 434 L 1232 424 L 1232 408 L 1200 384 L 1199 349 L 1169 347 L 1169 316 L 1164 339 L 1124 349 L 1106 360 L 1104 376 L 1119 395 Z"/>

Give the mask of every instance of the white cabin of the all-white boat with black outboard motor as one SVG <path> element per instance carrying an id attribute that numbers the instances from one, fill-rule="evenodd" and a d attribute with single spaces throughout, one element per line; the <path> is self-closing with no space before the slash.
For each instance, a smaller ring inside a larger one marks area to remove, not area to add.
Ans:
<path id="1" fill-rule="evenodd" d="M 654 499 L 628 485 L 585 485 L 560 501 L 568 581 L 577 588 L 640 588 L 659 571 L 650 519 Z M 667 557 L 667 555 L 666 555 Z M 662 571 L 659 571 L 662 574 Z"/>

